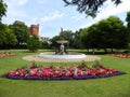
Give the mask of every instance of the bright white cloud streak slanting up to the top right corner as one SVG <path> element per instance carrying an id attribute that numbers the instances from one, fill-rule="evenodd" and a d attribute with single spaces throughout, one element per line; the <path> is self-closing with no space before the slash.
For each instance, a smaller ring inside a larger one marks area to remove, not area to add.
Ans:
<path id="1" fill-rule="evenodd" d="M 92 19 L 91 23 L 82 25 L 81 28 L 89 27 L 92 24 L 95 24 L 103 18 L 107 18 L 108 16 L 118 15 L 123 12 L 127 13 L 128 11 L 130 11 L 130 0 L 122 0 L 122 3 L 120 3 L 117 6 L 114 3 L 112 3 L 112 0 L 108 0 L 105 3 L 104 8 L 101 8 L 101 9 L 102 10 L 96 15 L 96 17 L 94 19 Z"/>

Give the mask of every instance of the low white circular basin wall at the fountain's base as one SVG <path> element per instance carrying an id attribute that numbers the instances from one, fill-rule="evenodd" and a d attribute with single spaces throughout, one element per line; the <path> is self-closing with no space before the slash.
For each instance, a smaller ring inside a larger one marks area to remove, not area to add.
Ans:
<path id="1" fill-rule="evenodd" d="M 40 53 L 38 57 L 48 59 L 82 59 L 86 58 L 87 56 L 84 54 L 54 55 Z"/>

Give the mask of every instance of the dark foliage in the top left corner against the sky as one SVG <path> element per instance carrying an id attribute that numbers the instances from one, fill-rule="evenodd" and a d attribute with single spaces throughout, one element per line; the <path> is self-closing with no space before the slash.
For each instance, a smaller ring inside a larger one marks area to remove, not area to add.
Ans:
<path id="1" fill-rule="evenodd" d="M 2 16 L 5 16 L 6 6 L 8 5 L 3 2 L 3 0 L 0 0 L 0 22 L 2 19 Z"/>

